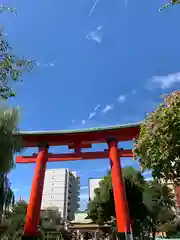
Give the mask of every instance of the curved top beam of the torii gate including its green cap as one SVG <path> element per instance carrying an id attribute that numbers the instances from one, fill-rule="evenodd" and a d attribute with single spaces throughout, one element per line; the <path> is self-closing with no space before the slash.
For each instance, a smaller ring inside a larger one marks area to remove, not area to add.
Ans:
<path id="1" fill-rule="evenodd" d="M 139 135 L 140 124 L 127 124 L 105 128 L 48 131 L 48 132 L 16 132 L 15 137 L 21 137 L 24 147 L 38 147 L 41 143 L 49 146 L 70 146 L 81 143 L 83 145 L 107 143 L 109 138 L 118 142 L 131 141 Z"/>

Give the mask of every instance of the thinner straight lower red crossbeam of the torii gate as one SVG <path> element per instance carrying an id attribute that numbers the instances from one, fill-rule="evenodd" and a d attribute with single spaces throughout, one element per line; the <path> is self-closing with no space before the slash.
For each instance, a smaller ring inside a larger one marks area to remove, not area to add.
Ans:
<path id="1" fill-rule="evenodd" d="M 33 156 L 17 156 L 16 163 L 35 163 L 36 156 L 37 154 Z M 133 157 L 132 150 L 119 150 L 119 157 Z M 104 152 L 48 154 L 48 162 L 97 160 L 103 158 L 109 158 L 109 153 L 107 150 Z"/>

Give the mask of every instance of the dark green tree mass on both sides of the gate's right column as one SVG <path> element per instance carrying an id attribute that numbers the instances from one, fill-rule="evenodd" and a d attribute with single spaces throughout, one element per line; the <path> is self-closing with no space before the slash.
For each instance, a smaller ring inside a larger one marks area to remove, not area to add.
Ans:
<path id="1" fill-rule="evenodd" d="M 152 232 L 155 237 L 159 229 L 167 230 L 164 224 L 175 223 L 174 195 L 167 185 L 146 182 L 141 173 L 131 167 L 123 169 L 123 176 L 134 237 L 144 239 Z M 95 189 L 95 198 L 88 205 L 88 217 L 99 225 L 116 218 L 110 172 Z"/>

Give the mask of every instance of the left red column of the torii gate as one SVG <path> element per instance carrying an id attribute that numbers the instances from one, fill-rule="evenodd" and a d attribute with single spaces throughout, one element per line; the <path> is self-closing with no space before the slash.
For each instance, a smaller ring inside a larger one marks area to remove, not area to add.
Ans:
<path id="1" fill-rule="evenodd" d="M 36 168 L 26 213 L 23 239 L 36 239 L 38 236 L 38 225 L 47 158 L 48 147 L 40 148 L 36 159 Z"/>

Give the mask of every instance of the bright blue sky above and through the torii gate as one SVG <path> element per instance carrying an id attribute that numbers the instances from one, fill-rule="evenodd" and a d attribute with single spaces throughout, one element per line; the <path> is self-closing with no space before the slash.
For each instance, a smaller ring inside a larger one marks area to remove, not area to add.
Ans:
<path id="1" fill-rule="evenodd" d="M 17 10 L 1 14 L 14 52 L 37 61 L 9 101 L 21 106 L 23 130 L 139 121 L 161 94 L 179 89 L 179 6 L 159 12 L 163 0 L 100 0 L 95 8 L 93 0 L 2 3 Z M 123 165 L 138 167 L 131 159 Z M 78 172 L 81 208 L 88 178 L 102 177 L 108 166 L 108 160 L 48 164 Z M 28 199 L 33 169 L 21 165 L 11 172 L 17 197 Z"/>

